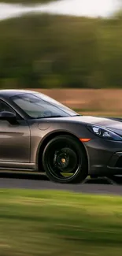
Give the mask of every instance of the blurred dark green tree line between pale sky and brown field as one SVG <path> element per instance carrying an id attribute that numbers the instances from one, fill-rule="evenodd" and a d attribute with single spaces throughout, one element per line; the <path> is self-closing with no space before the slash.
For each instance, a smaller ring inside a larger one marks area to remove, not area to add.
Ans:
<path id="1" fill-rule="evenodd" d="M 0 87 L 122 87 L 122 15 L 0 22 Z"/>

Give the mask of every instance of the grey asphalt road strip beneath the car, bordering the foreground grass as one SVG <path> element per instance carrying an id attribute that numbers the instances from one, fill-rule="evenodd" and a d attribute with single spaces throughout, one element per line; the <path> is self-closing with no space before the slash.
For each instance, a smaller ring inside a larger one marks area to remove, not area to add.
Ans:
<path id="1" fill-rule="evenodd" d="M 5 173 L 0 172 L 0 189 L 25 188 L 25 189 L 52 189 L 75 191 L 91 194 L 122 195 L 122 177 L 117 180 L 86 180 L 84 184 L 54 184 L 46 176 L 34 173 Z"/>

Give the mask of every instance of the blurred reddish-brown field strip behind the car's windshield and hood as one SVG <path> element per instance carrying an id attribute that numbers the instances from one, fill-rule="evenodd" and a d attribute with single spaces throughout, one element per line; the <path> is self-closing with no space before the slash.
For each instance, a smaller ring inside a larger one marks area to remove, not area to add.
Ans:
<path id="1" fill-rule="evenodd" d="M 83 114 L 118 116 L 122 114 L 121 89 L 34 89 L 43 92 Z"/>

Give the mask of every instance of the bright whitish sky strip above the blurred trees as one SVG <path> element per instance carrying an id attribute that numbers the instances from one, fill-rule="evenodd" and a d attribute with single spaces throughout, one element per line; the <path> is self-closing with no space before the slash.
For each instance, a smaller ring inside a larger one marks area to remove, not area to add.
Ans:
<path id="1" fill-rule="evenodd" d="M 61 0 L 47 5 L 24 7 L 0 3 L 0 20 L 18 17 L 24 13 L 57 13 L 64 15 L 109 17 L 120 9 L 116 0 Z"/>

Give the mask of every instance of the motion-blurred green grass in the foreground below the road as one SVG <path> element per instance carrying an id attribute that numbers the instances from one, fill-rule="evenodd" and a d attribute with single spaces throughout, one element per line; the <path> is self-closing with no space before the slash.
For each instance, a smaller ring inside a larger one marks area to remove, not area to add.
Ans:
<path id="1" fill-rule="evenodd" d="M 1 256 L 122 255 L 122 198 L 0 190 Z"/>

